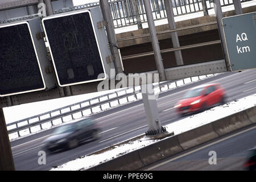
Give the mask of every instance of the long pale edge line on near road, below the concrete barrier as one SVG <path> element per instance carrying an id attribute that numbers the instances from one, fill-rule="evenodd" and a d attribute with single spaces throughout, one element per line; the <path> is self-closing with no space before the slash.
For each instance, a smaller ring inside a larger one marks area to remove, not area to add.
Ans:
<path id="1" fill-rule="evenodd" d="M 162 163 L 160 163 L 160 164 L 156 164 L 155 166 L 152 166 L 152 167 L 150 167 L 150 168 L 147 168 L 147 169 L 145 169 L 144 171 L 149 171 L 149 170 L 155 169 L 155 168 L 157 168 L 157 167 L 163 166 L 164 164 L 170 163 L 170 162 L 172 162 L 172 161 L 174 161 L 174 160 L 176 160 L 176 159 L 182 158 L 182 157 L 184 157 L 184 156 L 186 156 L 186 155 L 192 154 L 193 152 L 196 152 L 196 151 L 202 150 L 202 149 L 204 149 L 204 148 L 207 148 L 207 147 L 209 147 L 209 146 L 212 146 L 213 144 L 220 143 L 220 142 L 222 142 L 222 141 L 224 141 L 224 140 L 226 140 L 226 139 L 229 139 L 229 138 L 232 138 L 232 137 L 236 137 L 237 135 L 246 133 L 247 131 L 253 130 L 253 129 L 255 129 L 255 128 L 256 128 L 256 126 L 251 127 L 250 129 L 246 129 L 246 130 L 240 131 L 240 132 L 238 132 L 238 133 L 236 133 L 236 134 L 230 135 L 229 137 L 222 138 L 222 139 L 220 139 L 220 140 L 217 140 L 216 142 L 207 144 L 206 146 L 197 148 L 197 149 L 195 149 L 195 150 L 192 150 L 192 151 L 190 151 L 190 152 L 187 152 L 186 154 L 177 156 L 176 158 L 172 158 L 172 159 L 167 160 L 167 161 L 165 161 L 165 162 L 162 162 Z"/>

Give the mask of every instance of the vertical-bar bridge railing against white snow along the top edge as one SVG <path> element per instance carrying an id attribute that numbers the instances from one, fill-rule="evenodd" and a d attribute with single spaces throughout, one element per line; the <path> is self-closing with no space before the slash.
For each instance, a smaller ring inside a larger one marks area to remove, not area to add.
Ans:
<path id="1" fill-rule="evenodd" d="M 241 0 L 247 2 L 253 0 Z M 164 0 L 150 0 L 153 18 L 155 20 L 166 19 L 166 7 Z M 221 6 L 233 5 L 233 0 L 220 0 Z M 85 9 L 88 7 L 100 6 L 99 2 L 88 3 L 86 5 L 76 6 L 73 9 Z M 143 0 L 109 0 L 110 10 L 112 11 L 112 18 L 114 27 L 120 28 L 131 26 L 135 24 L 146 23 L 146 11 L 144 9 Z M 172 0 L 174 16 L 197 13 L 199 11 L 207 11 L 213 9 L 213 0 L 205 0 L 205 9 L 202 0 Z M 68 9 L 57 10 L 55 13 L 62 13 L 69 11 Z M 207 13 L 206 13 L 207 14 Z"/>

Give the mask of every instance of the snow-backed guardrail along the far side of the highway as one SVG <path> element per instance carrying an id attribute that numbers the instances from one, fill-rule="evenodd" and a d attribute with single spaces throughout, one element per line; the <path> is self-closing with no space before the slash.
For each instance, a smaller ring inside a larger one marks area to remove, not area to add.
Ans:
<path id="1" fill-rule="evenodd" d="M 166 92 L 167 90 L 175 89 L 179 86 L 199 81 L 214 75 L 217 74 L 189 77 L 175 81 L 166 81 L 160 84 L 156 84 L 154 86 L 154 89 L 156 93 Z M 89 100 L 77 102 L 72 105 L 51 110 L 46 113 L 34 115 L 29 118 L 24 118 L 16 122 L 8 123 L 7 130 L 9 132 L 9 138 L 10 140 L 13 140 L 16 138 L 27 136 L 32 133 L 38 133 L 40 131 L 50 129 L 51 127 L 61 125 L 61 123 L 63 122 L 71 121 L 72 119 L 80 118 L 86 115 L 89 116 L 97 114 L 113 107 L 117 107 L 123 104 L 129 104 L 131 102 L 141 99 L 142 96 L 140 86 L 136 86 L 134 88 L 124 88 L 112 93 L 91 98 Z M 93 111 L 93 109 L 98 109 L 100 111 Z M 68 119 L 66 117 L 68 117 Z M 65 119 L 66 121 L 64 121 Z"/>

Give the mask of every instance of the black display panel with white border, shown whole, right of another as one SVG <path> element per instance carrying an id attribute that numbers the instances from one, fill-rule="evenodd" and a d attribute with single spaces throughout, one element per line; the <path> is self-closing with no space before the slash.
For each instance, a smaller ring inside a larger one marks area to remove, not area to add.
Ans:
<path id="1" fill-rule="evenodd" d="M 105 73 L 90 11 L 46 17 L 43 27 L 60 86 L 92 82 Z"/>

